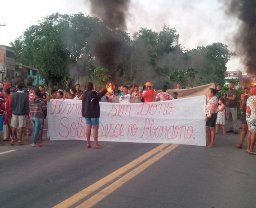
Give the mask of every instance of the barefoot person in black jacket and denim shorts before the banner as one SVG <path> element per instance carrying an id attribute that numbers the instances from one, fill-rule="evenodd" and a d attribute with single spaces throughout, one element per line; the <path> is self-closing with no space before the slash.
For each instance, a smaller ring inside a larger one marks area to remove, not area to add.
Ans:
<path id="1" fill-rule="evenodd" d="M 88 82 L 86 86 L 86 91 L 83 93 L 82 97 L 82 116 L 85 118 L 86 122 L 86 139 L 87 139 L 87 148 L 91 148 L 90 137 L 91 130 L 93 126 L 93 139 L 94 139 L 94 148 L 102 148 L 98 144 L 98 129 L 99 129 L 99 118 L 100 118 L 100 104 L 99 100 L 107 93 L 107 88 L 109 85 L 106 85 L 106 89 L 103 89 L 101 93 L 97 93 L 93 90 L 93 83 Z"/>

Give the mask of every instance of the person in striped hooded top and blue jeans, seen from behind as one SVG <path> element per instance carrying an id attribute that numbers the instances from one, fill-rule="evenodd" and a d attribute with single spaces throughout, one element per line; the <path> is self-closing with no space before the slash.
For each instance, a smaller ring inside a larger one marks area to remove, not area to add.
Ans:
<path id="1" fill-rule="evenodd" d="M 46 105 L 44 103 L 44 100 L 39 96 L 40 89 L 36 89 L 35 96 L 29 102 L 30 120 L 34 127 L 32 147 L 41 147 L 41 145 L 37 143 L 37 139 L 44 121 L 44 110 L 46 109 Z"/>

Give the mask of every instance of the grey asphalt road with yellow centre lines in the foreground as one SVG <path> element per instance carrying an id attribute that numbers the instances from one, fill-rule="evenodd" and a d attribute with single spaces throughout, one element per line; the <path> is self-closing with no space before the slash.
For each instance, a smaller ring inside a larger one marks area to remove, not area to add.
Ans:
<path id="1" fill-rule="evenodd" d="M 84 141 L 49 140 L 42 148 L 5 145 L 0 153 L 16 151 L 0 154 L 0 208 L 63 208 L 69 197 L 71 208 L 91 202 L 93 208 L 255 208 L 256 156 L 236 149 L 238 138 L 219 134 L 215 148 L 101 142 L 104 149 L 85 149 Z M 111 179 L 116 170 L 124 171 Z"/>

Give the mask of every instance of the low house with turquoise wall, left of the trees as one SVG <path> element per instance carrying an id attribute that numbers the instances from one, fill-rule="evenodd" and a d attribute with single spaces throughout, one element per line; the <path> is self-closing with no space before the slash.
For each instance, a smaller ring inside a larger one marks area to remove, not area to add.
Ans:
<path id="1" fill-rule="evenodd" d="M 15 67 L 15 83 L 22 81 L 26 85 L 43 85 L 44 80 L 40 77 L 38 70 L 32 66 L 18 64 Z"/>

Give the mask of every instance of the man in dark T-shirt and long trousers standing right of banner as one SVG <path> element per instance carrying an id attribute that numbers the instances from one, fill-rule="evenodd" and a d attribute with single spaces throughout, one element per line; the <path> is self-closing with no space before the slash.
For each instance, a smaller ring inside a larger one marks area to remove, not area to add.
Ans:
<path id="1" fill-rule="evenodd" d="M 228 91 L 223 96 L 226 99 L 226 114 L 227 114 L 227 133 L 238 134 L 237 127 L 237 90 L 233 89 L 234 84 L 232 82 L 228 85 Z M 231 126 L 231 120 L 233 120 L 233 128 Z"/>

